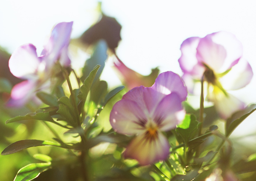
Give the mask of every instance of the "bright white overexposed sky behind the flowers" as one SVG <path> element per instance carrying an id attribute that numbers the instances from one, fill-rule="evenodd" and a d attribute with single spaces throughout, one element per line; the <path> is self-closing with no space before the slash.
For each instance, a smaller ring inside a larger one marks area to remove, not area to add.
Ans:
<path id="1" fill-rule="evenodd" d="M 96 6 L 96 0 L 1 0 L 0 46 L 10 53 L 24 43 L 42 49 L 52 27 L 62 21 L 74 21 L 72 37 L 79 37 L 97 20 Z M 220 30 L 236 35 L 256 72 L 255 8 L 254 0 L 102 0 L 103 12 L 122 25 L 117 54 L 143 75 L 156 66 L 181 74 L 177 60 L 183 40 Z M 113 78 L 108 70 L 104 75 Z M 254 77 L 237 94 L 255 103 L 255 85 Z"/>

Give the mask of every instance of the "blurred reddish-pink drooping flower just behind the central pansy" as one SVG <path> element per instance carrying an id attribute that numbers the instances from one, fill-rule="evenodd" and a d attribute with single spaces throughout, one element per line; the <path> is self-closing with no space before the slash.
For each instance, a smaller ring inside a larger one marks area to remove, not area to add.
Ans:
<path id="1" fill-rule="evenodd" d="M 144 76 L 132 69 L 129 69 L 118 57 L 116 58 L 117 61 L 114 62 L 114 66 L 120 73 L 120 80 L 129 90 L 137 86 L 149 87 L 154 84 L 154 81 L 159 74 L 158 68 L 152 69 L 150 75 Z"/>

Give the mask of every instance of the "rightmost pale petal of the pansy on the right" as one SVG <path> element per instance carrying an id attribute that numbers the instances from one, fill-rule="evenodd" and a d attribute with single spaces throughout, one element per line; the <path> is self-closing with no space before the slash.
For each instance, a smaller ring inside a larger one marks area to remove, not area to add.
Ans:
<path id="1" fill-rule="evenodd" d="M 253 70 L 250 64 L 244 60 L 240 59 L 239 63 L 231 68 L 231 70 L 219 78 L 221 85 L 225 90 L 236 90 L 241 89 L 250 83 L 253 78 Z"/>

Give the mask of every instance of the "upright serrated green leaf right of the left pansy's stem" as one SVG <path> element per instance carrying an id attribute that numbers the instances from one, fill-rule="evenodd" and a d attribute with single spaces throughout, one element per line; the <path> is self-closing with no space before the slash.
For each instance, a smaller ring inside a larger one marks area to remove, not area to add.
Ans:
<path id="1" fill-rule="evenodd" d="M 80 94 L 78 95 L 78 98 L 80 100 L 83 100 L 84 102 L 86 101 L 87 95 L 90 91 L 90 88 L 92 86 L 95 75 L 99 70 L 99 67 L 99 65 L 95 66 L 94 69 L 90 72 L 90 75 L 84 80 L 84 84 L 80 87 Z"/>

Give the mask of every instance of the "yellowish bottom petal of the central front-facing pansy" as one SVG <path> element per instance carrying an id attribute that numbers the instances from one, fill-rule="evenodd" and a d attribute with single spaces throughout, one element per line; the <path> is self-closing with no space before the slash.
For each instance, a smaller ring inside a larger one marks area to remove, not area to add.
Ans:
<path id="1" fill-rule="evenodd" d="M 148 165 L 167 159 L 169 148 L 169 142 L 161 132 L 152 139 L 149 139 L 145 133 L 131 141 L 124 152 L 124 157 L 136 159 L 140 165 Z"/>

